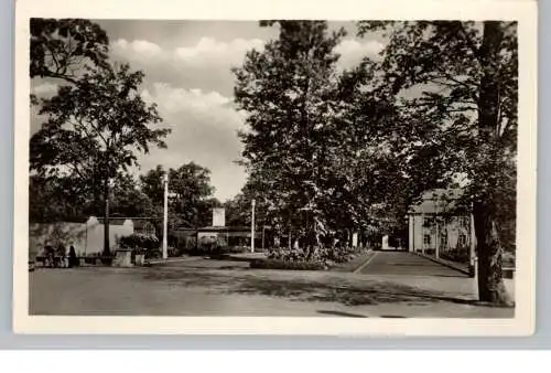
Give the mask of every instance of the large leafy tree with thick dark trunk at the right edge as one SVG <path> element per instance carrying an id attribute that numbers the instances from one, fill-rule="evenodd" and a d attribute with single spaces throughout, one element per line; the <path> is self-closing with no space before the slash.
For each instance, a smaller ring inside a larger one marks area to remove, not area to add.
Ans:
<path id="1" fill-rule="evenodd" d="M 377 76 L 364 84 L 363 105 L 393 114 L 383 127 L 374 121 L 371 134 L 399 150 L 410 196 L 463 179 L 463 202 L 475 222 L 479 299 L 508 302 L 500 226 L 515 220 L 517 24 L 359 23 L 360 35 L 381 31 L 388 44 Z"/>

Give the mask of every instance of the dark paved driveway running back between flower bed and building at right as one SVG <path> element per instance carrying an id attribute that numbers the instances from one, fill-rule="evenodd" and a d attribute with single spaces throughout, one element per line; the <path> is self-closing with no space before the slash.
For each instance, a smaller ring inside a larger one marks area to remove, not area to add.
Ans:
<path id="1" fill-rule="evenodd" d="M 458 270 L 407 252 L 377 252 L 360 273 L 366 275 L 468 277 Z"/>

